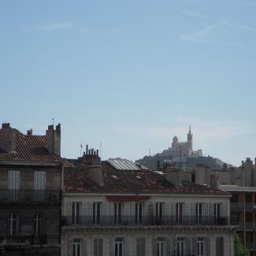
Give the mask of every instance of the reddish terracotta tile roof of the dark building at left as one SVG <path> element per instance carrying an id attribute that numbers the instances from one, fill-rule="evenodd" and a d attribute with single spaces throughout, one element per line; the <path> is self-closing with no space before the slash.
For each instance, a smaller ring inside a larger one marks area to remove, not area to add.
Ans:
<path id="1" fill-rule="evenodd" d="M 59 154 L 51 153 L 47 149 L 46 143 L 46 135 L 24 135 L 17 131 L 15 151 L 9 152 L 0 147 L 0 161 L 62 161 Z"/>

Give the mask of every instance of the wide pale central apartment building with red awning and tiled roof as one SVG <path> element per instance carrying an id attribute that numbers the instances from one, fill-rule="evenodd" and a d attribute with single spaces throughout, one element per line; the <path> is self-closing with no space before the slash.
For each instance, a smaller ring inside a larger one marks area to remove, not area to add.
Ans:
<path id="1" fill-rule="evenodd" d="M 64 171 L 61 255 L 232 256 L 230 195 L 86 150 Z"/>

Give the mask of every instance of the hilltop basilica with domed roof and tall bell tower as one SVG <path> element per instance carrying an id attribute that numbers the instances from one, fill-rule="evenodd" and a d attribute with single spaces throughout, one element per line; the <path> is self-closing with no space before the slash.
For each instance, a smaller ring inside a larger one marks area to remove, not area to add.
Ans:
<path id="1" fill-rule="evenodd" d="M 193 150 L 193 134 L 191 133 L 191 126 L 189 126 L 189 132 L 187 133 L 187 142 L 179 142 L 179 139 L 174 136 L 172 147 L 168 150 L 163 150 L 162 155 L 164 158 L 172 159 L 173 162 L 184 161 L 189 157 L 202 157 L 202 150 Z"/>

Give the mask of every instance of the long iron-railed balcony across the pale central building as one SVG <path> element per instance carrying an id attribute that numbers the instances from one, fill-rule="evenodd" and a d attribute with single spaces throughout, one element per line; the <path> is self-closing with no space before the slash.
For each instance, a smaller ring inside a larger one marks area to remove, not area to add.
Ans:
<path id="1" fill-rule="evenodd" d="M 62 226 L 150 226 L 150 225 L 227 225 L 233 224 L 228 217 L 201 217 L 176 216 L 149 217 L 149 216 L 65 216 L 62 217 Z M 236 223 L 234 223 L 236 224 Z"/>

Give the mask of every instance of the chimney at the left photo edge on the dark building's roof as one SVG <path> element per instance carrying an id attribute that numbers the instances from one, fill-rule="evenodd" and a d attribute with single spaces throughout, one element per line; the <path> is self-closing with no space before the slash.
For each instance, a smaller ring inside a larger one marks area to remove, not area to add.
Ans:
<path id="1" fill-rule="evenodd" d="M 2 124 L 0 146 L 9 152 L 16 150 L 16 129 L 11 128 L 9 123 Z"/>

